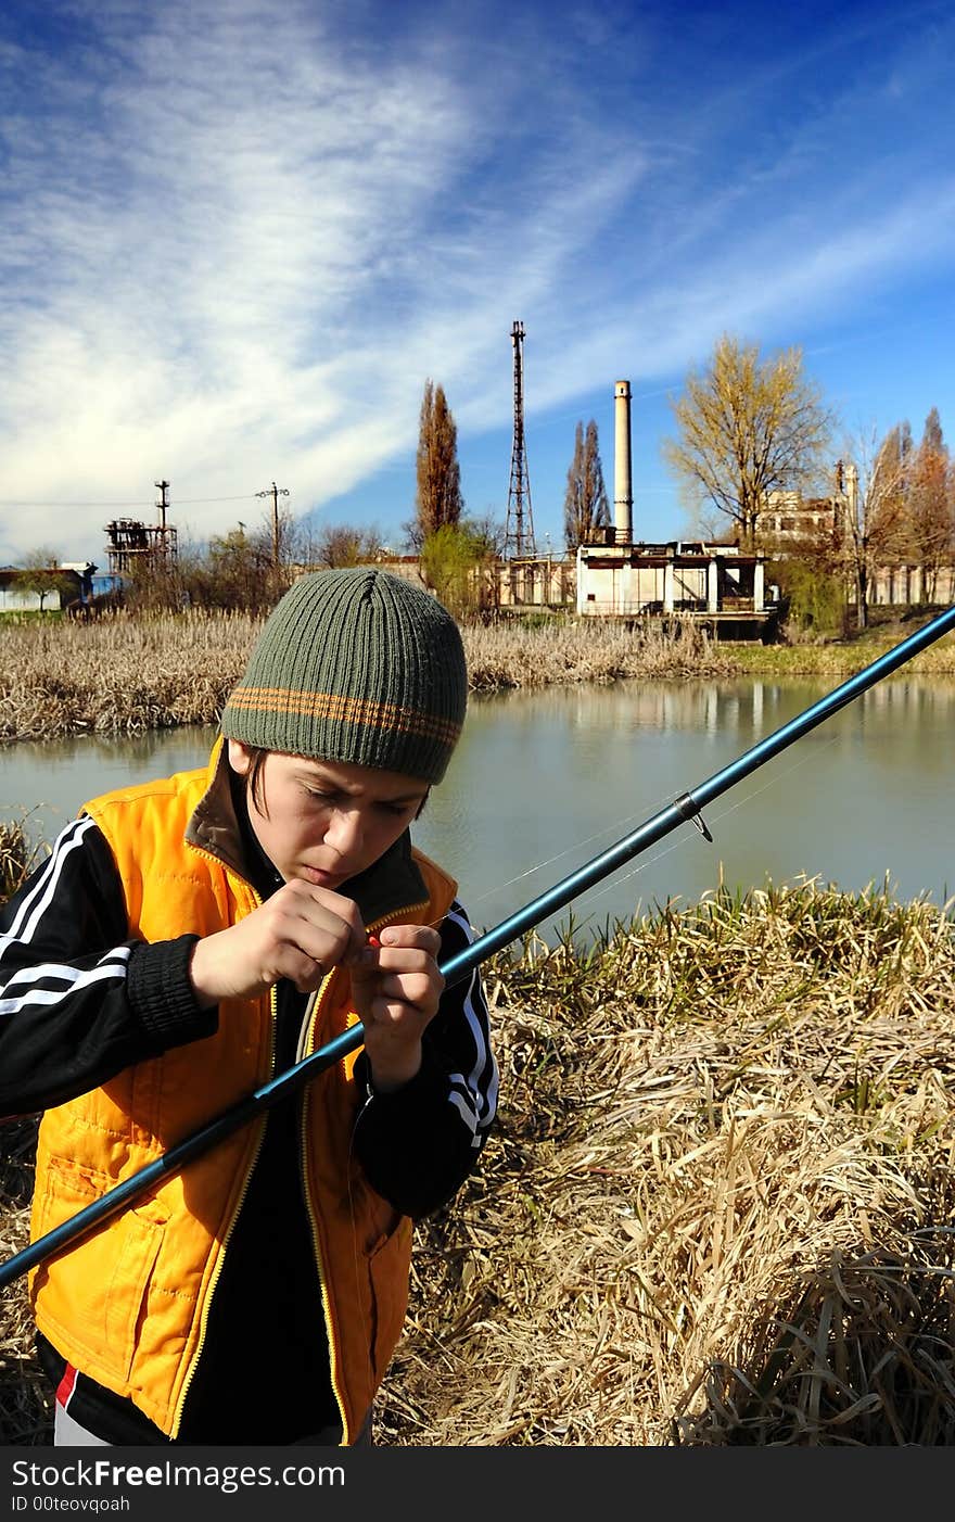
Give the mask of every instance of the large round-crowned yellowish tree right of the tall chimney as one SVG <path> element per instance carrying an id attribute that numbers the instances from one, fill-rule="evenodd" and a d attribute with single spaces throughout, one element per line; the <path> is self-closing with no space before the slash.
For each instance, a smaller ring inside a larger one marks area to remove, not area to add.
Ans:
<path id="1" fill-rule="evenodd" d="M 671 408 L 666 464 L 696 508 L 710 502 L 736 524 L 744 548 L 759 540 L 771 492 L 807 492 L 821 476 L 833 417 L 798 349 L 760 359 L 754 344 L 724 333 Z"/>

